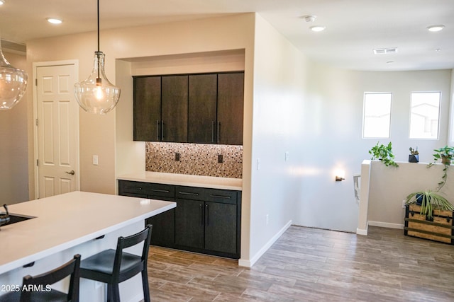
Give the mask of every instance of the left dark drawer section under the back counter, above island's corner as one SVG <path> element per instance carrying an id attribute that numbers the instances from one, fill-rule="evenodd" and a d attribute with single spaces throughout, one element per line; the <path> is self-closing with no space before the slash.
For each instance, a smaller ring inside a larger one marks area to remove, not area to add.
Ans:
<path id="1" fill-rule="evenodd" d="M 175 186 L 151 182 L 135 182 L 128 180 L 118 180 L 119 194 L 145 194 L 149 198 L 166 197 L 175 198 Z"/>

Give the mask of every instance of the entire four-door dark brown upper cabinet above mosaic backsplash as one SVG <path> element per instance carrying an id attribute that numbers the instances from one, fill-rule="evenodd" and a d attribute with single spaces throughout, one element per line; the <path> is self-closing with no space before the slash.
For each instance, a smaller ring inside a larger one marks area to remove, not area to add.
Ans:
<path id="1" fill-rule="evenodd" d="M 241 145 L 243 99 L 243 72 L 135 76 L 134 140 Z"/>

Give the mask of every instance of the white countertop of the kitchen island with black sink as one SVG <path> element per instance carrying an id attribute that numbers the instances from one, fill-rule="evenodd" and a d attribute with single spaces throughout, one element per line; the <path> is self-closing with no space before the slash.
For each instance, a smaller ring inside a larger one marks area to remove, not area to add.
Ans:
<path id="1" fill-rule="evenodd" d="M 0 227 L 0 274 L 175 206 L 175 202 L 79 191 L 11 204 L 11 215 L 36 218 Z"/>

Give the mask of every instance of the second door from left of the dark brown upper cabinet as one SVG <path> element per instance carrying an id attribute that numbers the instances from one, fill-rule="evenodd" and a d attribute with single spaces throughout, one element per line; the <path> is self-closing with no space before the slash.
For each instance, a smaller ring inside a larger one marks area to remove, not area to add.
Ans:
<path id="1" fill-rule="evenodd" d="M 187 142 L 188 76 L 162 76 L 161 141 Z"/>

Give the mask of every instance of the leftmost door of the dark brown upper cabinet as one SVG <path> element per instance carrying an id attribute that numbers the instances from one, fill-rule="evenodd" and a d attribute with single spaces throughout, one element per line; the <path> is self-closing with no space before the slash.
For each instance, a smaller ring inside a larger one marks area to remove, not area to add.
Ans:
<path id="1" fill-rule="evenodd" d="M 133 79 L 133 137 L 135 141 L 159 141 L 161 120 L 161 77 Z"/>

